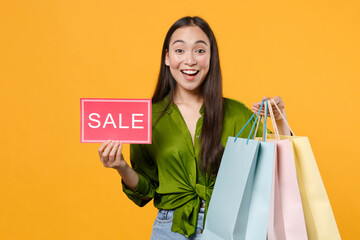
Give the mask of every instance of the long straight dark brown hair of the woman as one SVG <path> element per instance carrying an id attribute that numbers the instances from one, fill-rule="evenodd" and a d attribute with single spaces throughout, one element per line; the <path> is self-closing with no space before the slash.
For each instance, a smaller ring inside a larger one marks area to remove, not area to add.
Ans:
<path id="1" fill-rule="evenodd" d="M 183 17 L 177 20 L 166 34 L 161 54 L 161 67 L 158 82 L 152 102 L 156 103 L 164 97 L 169 96 L 169 102 L 157 121 L 165 114 L 173 101 L 176 81 L 165 65 L 166 51 L 169 49 L 172 34 L 181 27 L 198 26 L 209 38 L 211 55 L 209 72 L 201 85 L 201 92 L 204 99 L 204 119 L 200 135 L 200 161 L 199 167 L 202 173 L 216 175 L 220 166 L 221 155 L 224 148 L 221 144 L 221 132 L 223 125 L 223 95 L 222 77 L 220 70 L 219 52 L 216 39 L 209 24 L 200 17 Z M 156 121 L 156 122 L 157 122 Z"/>

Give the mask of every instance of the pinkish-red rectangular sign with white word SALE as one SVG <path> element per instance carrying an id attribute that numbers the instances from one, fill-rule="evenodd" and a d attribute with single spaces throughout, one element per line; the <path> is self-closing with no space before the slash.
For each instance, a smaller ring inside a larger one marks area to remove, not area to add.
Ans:
<path id="1" fill-rule="evenodd" d="M 151 144 L 151 99 L 80 99 L 80 142 Z"/>

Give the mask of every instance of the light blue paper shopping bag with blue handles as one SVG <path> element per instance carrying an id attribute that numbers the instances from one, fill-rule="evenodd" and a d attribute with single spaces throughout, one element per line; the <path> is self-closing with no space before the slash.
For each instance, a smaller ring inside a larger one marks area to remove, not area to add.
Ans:
<path id="1" fill-rule="evenodd" d="M 248 123 L 228 138 L 202 240 L 266 239 L 276 150 L 274 143 L 249 139 L 257 119 L 248 139 L 238 138 Z"/>

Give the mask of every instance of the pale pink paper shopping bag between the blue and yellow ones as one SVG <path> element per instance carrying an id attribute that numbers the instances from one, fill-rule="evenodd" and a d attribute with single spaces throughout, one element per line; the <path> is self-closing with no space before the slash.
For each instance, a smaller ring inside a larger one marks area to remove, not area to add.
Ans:
<path id="1" fill-rule="evenodd" d="M 279 131 L 269 102 L 274 128 L 277 158 L 274 162 L 271 207 L 268 226 L 269 240 L 306 240 L 304 212 L 296 176 L 292 146 L 288 139 L 280 140 Z"/>

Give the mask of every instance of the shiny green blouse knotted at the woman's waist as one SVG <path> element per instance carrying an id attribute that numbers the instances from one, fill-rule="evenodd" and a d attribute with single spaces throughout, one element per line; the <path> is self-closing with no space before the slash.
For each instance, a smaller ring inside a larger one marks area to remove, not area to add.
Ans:
<path id="1" fill-rule="evenodd" d="M 196 124 L 193 145 L 186 123 L 174 103 L 171 103 L 154 126 L 167 102 L 168 97 L 152 105 L 152 144 L 130 146 L 130 161 L 139 175 L 139 183 L 135 192 L 122 183 L 123 191 L 139 206 L 144 206 L 154 199 L 155 207 L 174 209 L 171 230 L 189 237 L 196 230 L 201 199 L 206 201 L 205 209 L 208 209 L 215 178 L 203 176 L 198 167 L 203 107 Z M 224 147 L 228 137 L 236 136 L 252 114 L 244 104 L 224 98 L 221 137 Z M 247 126 L 240 137 L 247 138 L 250 129 L 251 125 Z M 257 136 L 261 134 L 262 126 L 259 127 Z"/>

